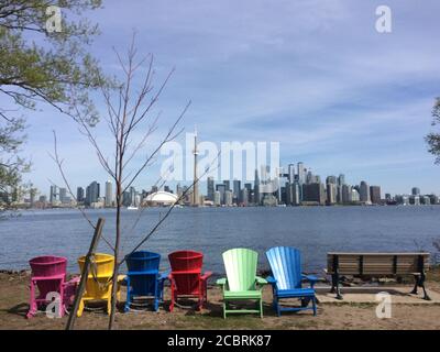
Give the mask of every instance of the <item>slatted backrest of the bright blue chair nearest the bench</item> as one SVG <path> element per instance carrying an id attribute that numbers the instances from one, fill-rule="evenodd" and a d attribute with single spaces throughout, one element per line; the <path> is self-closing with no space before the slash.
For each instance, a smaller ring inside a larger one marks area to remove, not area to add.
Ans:
<path id="1" fill-rule="evenodd" d="M 301 287 L 301 254 L 297 249 L 275 246 L 266 252 L 278 289 Z"/>

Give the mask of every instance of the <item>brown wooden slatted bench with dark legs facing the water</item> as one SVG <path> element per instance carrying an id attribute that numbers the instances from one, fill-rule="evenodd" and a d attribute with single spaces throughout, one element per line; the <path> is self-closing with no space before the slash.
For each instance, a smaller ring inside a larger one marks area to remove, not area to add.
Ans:
<path id="1" fill-rule="evenodd" d="M 353 276 L 404 276 L 414 275 L 417 288 L 424 289 L 424 299 L 430 300 L 425 289 L 426 271 L 429 270 L 429 253 L 327 253 L 327 274 L 331 275 L 331 290 L 342 299 L 339 288 L 341 275 Z"/>

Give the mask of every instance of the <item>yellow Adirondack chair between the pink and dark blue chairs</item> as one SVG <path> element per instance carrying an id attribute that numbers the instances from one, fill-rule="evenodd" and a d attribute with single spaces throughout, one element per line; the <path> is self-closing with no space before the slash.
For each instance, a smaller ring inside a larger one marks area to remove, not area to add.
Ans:
<path id="1" fill-rule="evenodd" d="M 86 256 L 78 258 L 79 268 L 82 271 L 82 266 L 86 262 Z M 112 276 L 114 268 L 114 256 L 110 254 L 96 253 L 91 257 L 90 271 L 86 280 L 86 289 L 82 294 L 77 316 L 82 315 L 85 304 L 89 300 L 103 300 L 107 301 L 107 312 L 111 312 L 111 288 L 112 288 Z M 121 292 L 120 286 L 125 275 L 118 276 L 117 287 L 117 299 L 120 300 Z"/>

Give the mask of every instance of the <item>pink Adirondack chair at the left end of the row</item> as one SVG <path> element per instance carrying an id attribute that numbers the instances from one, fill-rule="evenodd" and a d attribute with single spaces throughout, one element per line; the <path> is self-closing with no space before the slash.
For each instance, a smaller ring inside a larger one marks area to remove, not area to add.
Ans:
<path id="1" fill-rule="evenodd" d="M 77 277 L 66 282 L 67 258 L 44 255 L 30 260 L 29 264 L 31 265 L 32 274 L 30 309 L 26 318 L 32 318 L 38 308 L 51 302 L 46 299 L 48 293 L 59 294 L 59 314 L 64 316 L 66 308 L 72 302 L 78 283 Z M 36 288 L 38 290 L 37 295 Z"/>

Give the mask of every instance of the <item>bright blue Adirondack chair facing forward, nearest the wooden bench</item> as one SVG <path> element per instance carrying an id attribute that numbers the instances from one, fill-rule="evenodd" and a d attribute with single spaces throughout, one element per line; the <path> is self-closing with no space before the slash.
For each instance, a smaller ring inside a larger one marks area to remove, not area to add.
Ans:
<path id="1" fill-rule="evenodd" d="M 289 246 L 275 246 L 266 252 L 271 265 L 272 276 L 266 277 L 272 285 L 274 301 L 273 306 L 278 317 L 282 311 L 298 311 L 311 309 L 314 316 L 317 314 L 314 285 L 318 280 L 316 276 L 301 274 L 301 255 L 297 249 Z M 301 280 L 310 283 L 309 288 L 302 288 Z M 282 307 L 279 299 L 298 298 L 299 307 Z M 311 307 L 309 307 L 311 302 Z"/>

